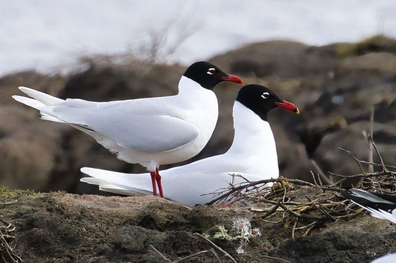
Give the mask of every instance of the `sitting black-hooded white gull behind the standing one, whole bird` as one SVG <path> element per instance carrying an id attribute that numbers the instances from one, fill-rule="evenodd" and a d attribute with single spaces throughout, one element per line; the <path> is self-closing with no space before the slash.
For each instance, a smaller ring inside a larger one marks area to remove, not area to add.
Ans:
<path id="1" fill-rule="evenodd" d="M 298 108 L 281 100 L 270 89 L 260 85 L 241 88 L 234 103 L 234 141 L 224 154 L 202 159 L 184 166 L 161 171 L 165 197 L 183 204 L 195 205 L 210 201 L 203 195 L 229 183 L 241 183 L 240 174 L 249 181 L 277 178 L 278 157 L 267 113 L 274 108 L 299 113 Z M 151 194 L 148 174 L 125 174 L 84 167 L 81 171 L 92 177 L 82 182 L 99 185 L 103 191 L 127 195 Z M 233 180 L 234 179 L 234 180 Z"/>

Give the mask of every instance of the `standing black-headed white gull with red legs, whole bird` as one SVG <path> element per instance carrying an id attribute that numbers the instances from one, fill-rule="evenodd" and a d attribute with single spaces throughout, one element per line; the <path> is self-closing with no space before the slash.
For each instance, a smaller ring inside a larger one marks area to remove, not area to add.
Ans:
<path id="1" fill-rule="evenodd" d="M 19 87 L 33 99 L 12 96 L 40 111 L 41 118 L 66 123 L 94 137 L 99 144 L 129 163 L 140 163 L 151 175 L 152 193 L 163 197 L 159 165 L 197 155 L 211 137 L 218 105 L 214 86 L 243 80 L 208 62 L 191 65 L 179 82 L 179 93 L 169 97 L 91 102 L 52 97 Z M 149 87 L 148 87 L 149 88 Z"/>

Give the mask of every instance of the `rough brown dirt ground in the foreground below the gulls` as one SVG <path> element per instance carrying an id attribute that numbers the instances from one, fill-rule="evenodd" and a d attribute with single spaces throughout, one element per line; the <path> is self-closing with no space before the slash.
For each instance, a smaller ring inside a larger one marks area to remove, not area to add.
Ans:
<path id="1" fill-rule="evenodd" d="M 303 188 L 291 197 L 297 200 L 306 194 L 320 192 Z M 365 213 L 348 221 L 320 223 L 307 236 L 303 236 L 306 228 L 296 230 L 292 238 L 296 218 L 286 214 L 280 223 L 264 222 L 263 213 L 252 212 L 247 205 L 192 208 L 153 196 L 63 192 L 0 201 L 0 218 L 16 226 L 10 233 L 15 238 L 8 242 L 25 262 L 166 262 L 150 251 L 150 245 L 174 261 L 210 249 L 195 233 L 208 236 L 237 262 L 285 262 L 269 258 L 274 257 L 301 263 L 355 263 L 396 251 L 395 225 Z M 266 220 L 277 221 L 281 214 Z M 297 226 L 308 224 L 298 221 Z M 228 241 L 219 237 L 219 225 Z M 230 262 L 217 254 L 221 262 Z M 218 260 L 207 252 L 183 262 Z"/>

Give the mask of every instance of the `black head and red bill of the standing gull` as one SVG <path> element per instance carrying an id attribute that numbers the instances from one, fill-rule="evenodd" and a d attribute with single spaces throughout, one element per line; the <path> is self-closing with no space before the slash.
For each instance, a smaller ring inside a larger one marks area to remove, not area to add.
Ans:
<path id="1" fill-rule="evenodd" d="M 244 81 L 239 76 L 224 73 L 217 66 L 205 61 L 194 63 L 183 75 L 210 90 L 222 81 L 244 84 Z"/>

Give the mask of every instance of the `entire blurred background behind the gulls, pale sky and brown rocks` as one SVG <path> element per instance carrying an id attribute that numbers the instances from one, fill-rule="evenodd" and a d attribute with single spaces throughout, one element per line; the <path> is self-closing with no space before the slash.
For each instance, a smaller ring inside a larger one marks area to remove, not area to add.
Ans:
<path id="1" fill-rule="evenodd" d="M 61 98 L 108 101 L 172 95 L 189 64 L 209 60 L 295 103 L 270 113 L 281 174 L 359 173 L 338 147 L 367 159 L 374 141 L 396 164 L 394 1 L 12 1 L 0 3 L 0 184 L 92 192 L 83 166 L 144 172 L 66 125 L 11 99 L 28 86 Z M 220 116 L 207 147 L 225 152 L 239 87 L 215 88 Z M 185 162 L 185 163 L 187 163 Z M 179 164 L 178 164 L 179 165 Z M 162 166 L 162 169 L 171 167 Z M 263 167 L 265 169 L 265 167 Z"/>

